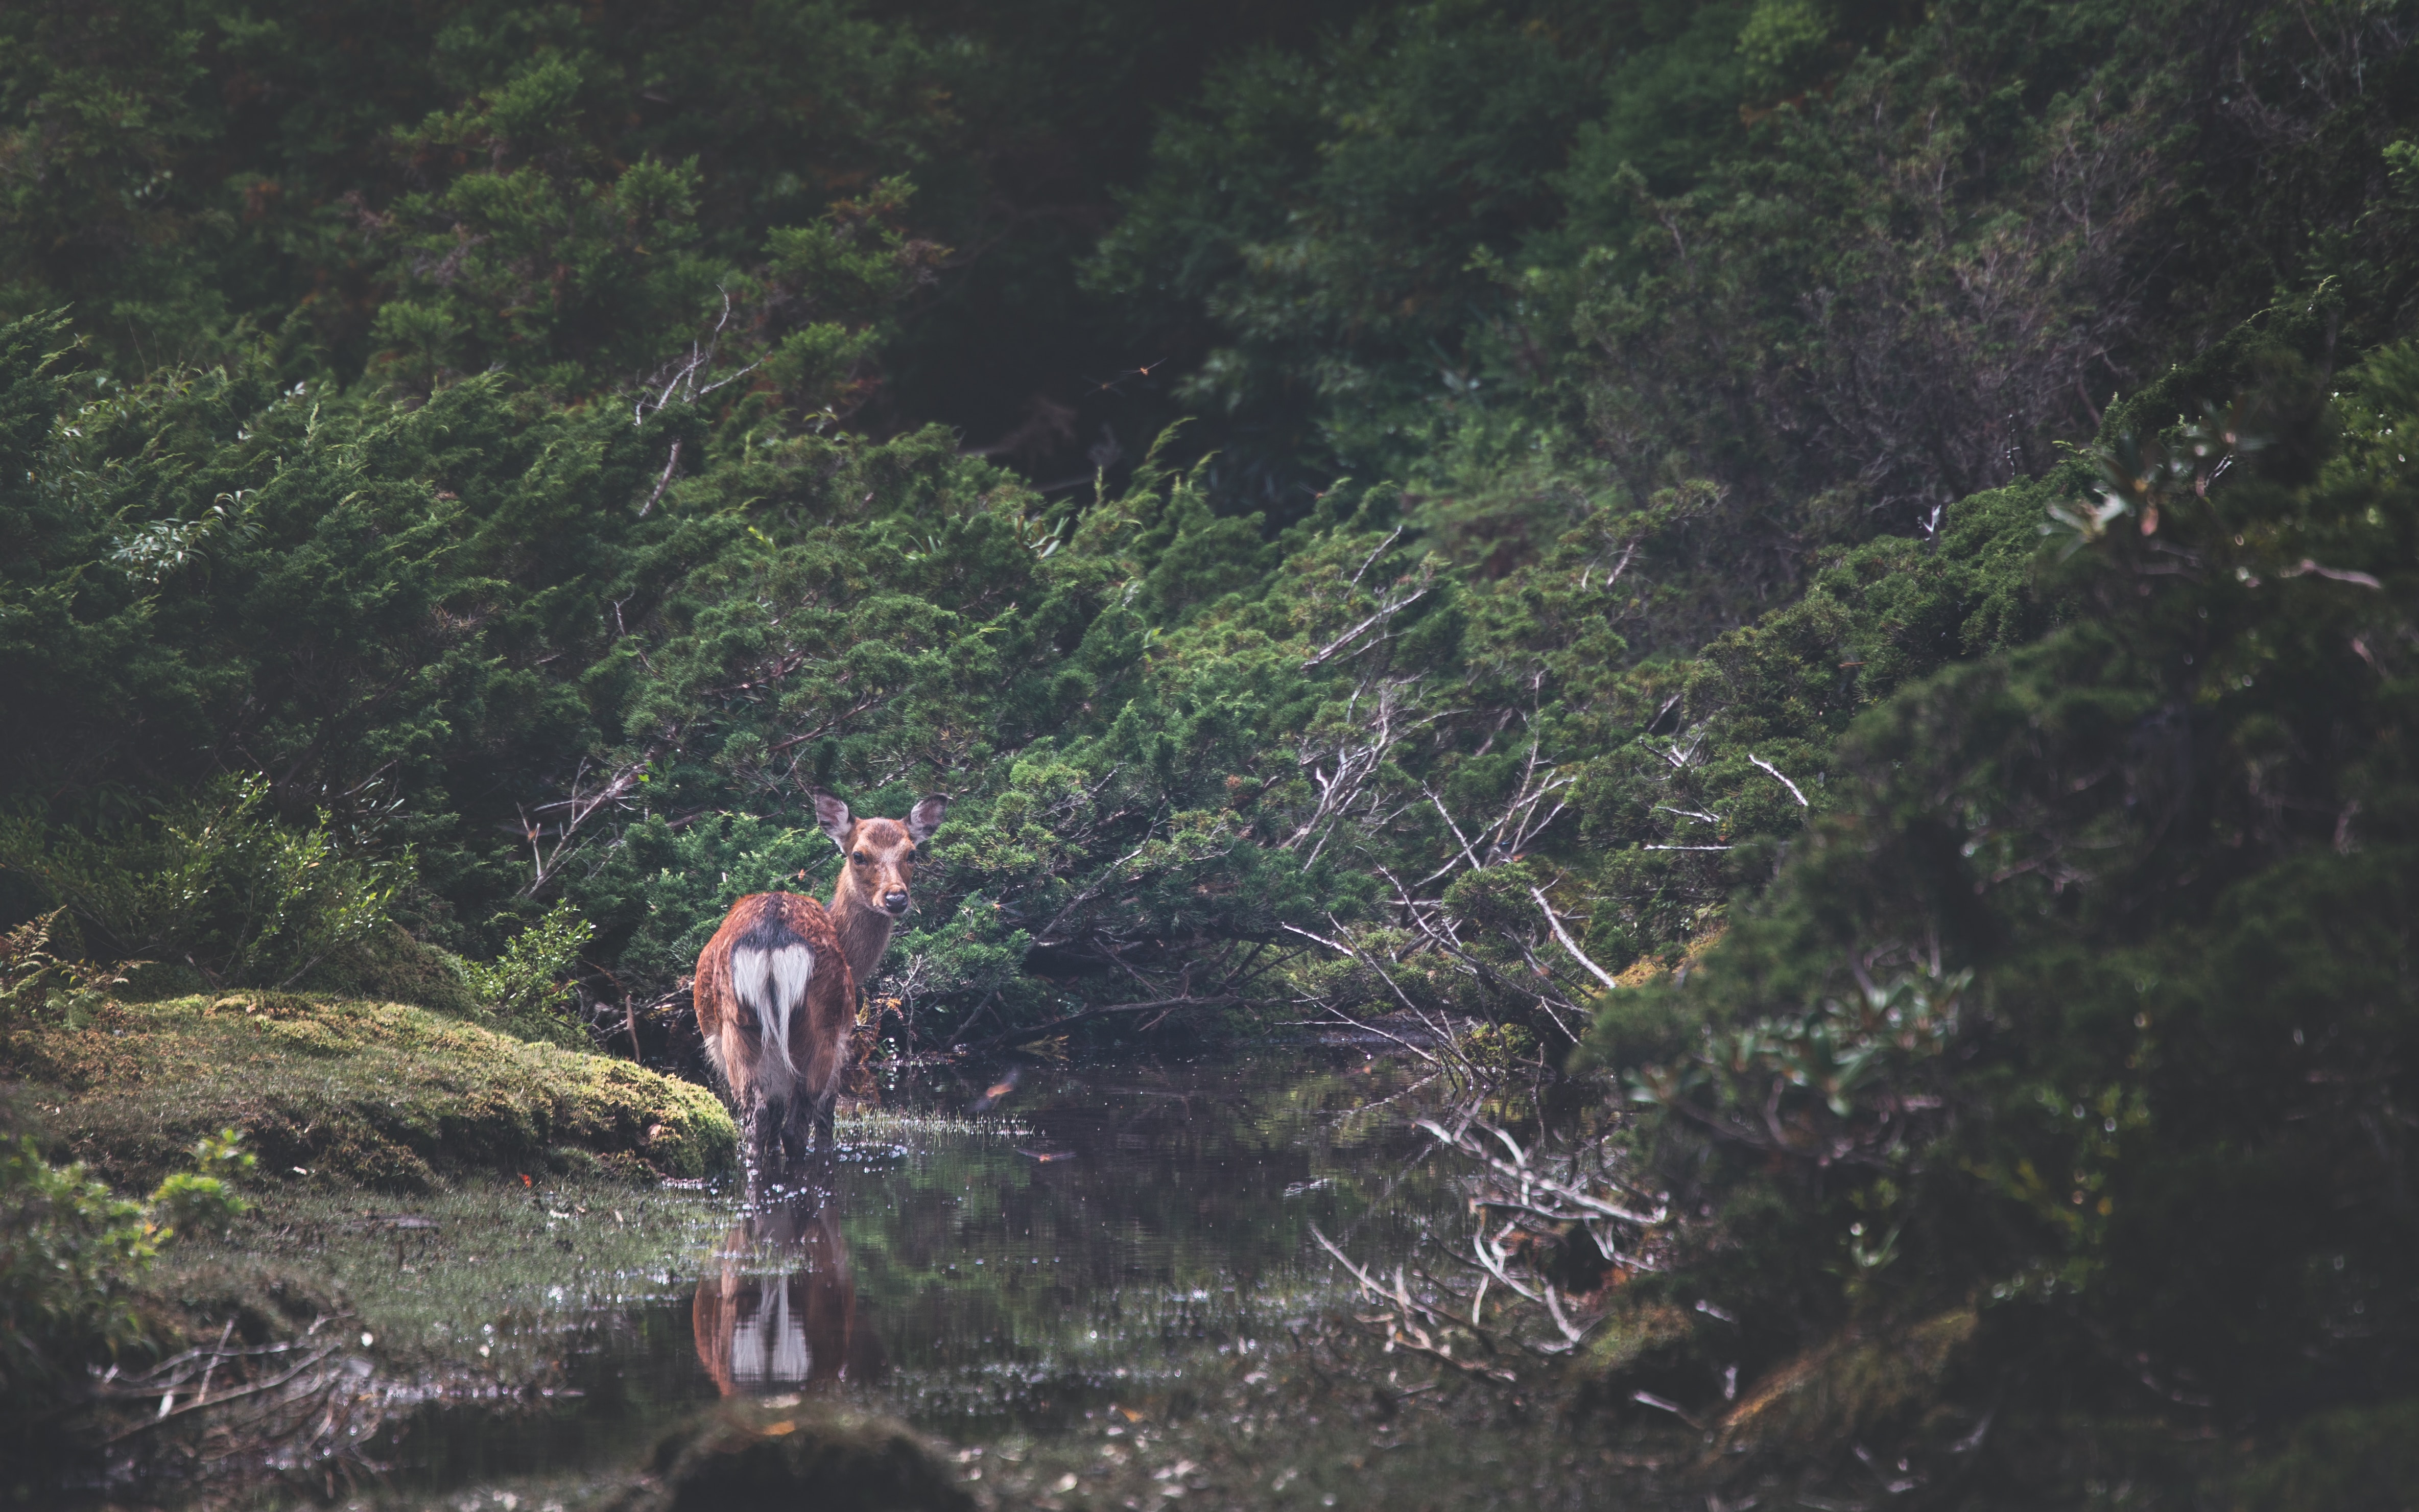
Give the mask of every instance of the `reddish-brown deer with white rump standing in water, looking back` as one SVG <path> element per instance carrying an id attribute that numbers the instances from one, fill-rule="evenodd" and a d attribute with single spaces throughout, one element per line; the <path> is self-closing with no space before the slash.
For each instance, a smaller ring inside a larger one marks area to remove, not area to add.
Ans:
<path id="1" fill-rule="evenodd" d="M 750 893 L 697 956 L 697 1033 L 740 1113 L 750 1200 L 767 1171 L 832 1147 L 856 985 L 873 977 L 890 931 L 914 907 L 917 852 L 948 815 L 946 793 L 926 793 L 905 820 L 851 818 L 820 789 L 810 798 L 818 827 L 842 852 L 832 902 Z"/>

